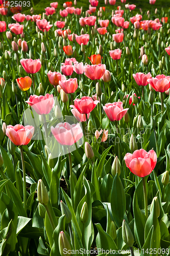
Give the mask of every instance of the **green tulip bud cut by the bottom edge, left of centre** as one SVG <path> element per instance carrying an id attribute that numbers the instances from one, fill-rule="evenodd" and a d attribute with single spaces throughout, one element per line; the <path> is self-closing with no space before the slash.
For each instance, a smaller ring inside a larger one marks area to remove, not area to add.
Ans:
<path id="1" fill-rule="evenodd" d="M 61 231 L 59 233 L 58 245 L 59 245 L 59 251 L 60 251 L 61 256 L 70 256 L 71 255 L 71 246 L 70 246 L 69 241 L 63 231 Z M 65 250 L 66 250 L 66 252 L 65 252 Z M 68 253 L 68 251 L 70 251 L 70 253 Z"/>

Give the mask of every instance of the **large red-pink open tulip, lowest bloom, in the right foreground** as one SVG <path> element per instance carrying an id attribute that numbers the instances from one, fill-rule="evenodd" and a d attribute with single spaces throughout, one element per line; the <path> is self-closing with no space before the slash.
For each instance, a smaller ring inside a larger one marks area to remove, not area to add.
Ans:
<path id="1" fill-rule="evenodd" d="M 133 154 L 127 153 L 124 157 L 126 166 L 138 177 L 145 177 L 151 174 L 157 162 L 157 156 L 154 150 L 149 152 L 141 149 Z"/>

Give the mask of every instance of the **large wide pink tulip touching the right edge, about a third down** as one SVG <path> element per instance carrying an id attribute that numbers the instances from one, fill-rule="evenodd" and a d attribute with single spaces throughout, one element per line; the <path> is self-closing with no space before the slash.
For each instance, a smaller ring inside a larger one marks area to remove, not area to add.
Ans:
<path id="1" fill-rule="evenodd" d="M 155 89 L 156 92 L 163 93 L 170 87 L 170 77 L 165 75 L 157 75 L 155 78 L 148 79 L 149 84 Z"/>

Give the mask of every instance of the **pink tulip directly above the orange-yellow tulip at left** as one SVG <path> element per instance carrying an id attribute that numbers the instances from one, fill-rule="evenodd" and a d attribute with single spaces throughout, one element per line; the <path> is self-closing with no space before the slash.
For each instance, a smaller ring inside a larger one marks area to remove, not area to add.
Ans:
<path id="1" fill-rule="evenodd" d="M 28 74 L 35 74 L 41 68 L 41 61 L 39 59 L 21 59 L 20 63 Z"/>

